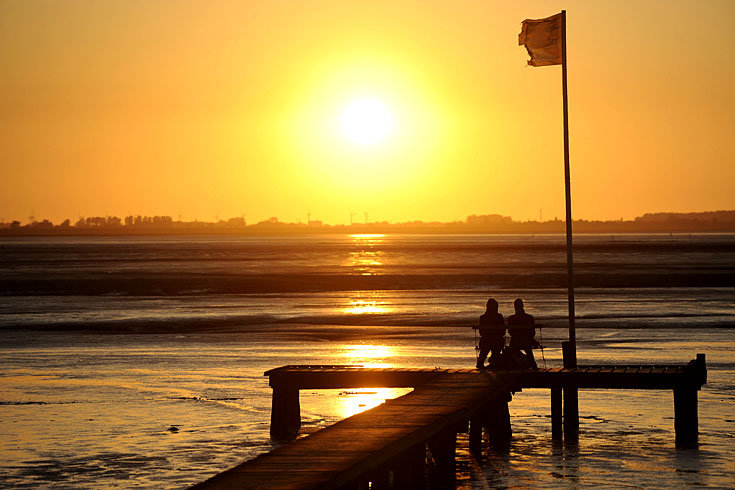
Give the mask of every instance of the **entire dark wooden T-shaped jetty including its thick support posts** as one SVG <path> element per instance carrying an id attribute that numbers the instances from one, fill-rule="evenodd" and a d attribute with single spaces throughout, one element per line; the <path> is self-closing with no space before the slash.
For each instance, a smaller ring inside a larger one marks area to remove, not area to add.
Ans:
<path id="1" fill-rule="evenodd" d="M 697 443 L 697 391 L 707 381 L 704 354 L 686 366 L 579 366 L 537 371 L 283 366 L 265 373 L 273 388 L 271 435 L 292 439 L 301 426 L 299 390 L 413 387 L 399 398 L 353 415 L 196 488 L 367 489 L 423 488 L 427 462 L 432 481 L 451 486 L 456 436 L 469 431 L 481 457 L 482 431 L 495 442 L 511 435 L 508 402 L 523 388 L 551 391 L 555 439 L 577 440 L 576 407 L 562 410 L 565 388 L 670 389 L 676 443 Z M 564 407 L 566 408 L 566 407 Z M 428 449 L 428 452 L 427 452 Z"/>

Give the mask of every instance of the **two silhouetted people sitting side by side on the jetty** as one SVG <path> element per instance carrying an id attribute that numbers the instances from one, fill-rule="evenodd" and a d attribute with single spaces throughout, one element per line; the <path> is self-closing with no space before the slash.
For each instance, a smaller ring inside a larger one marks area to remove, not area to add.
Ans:
<path id="1" fill-rule="evenodd" d="M 477 368 L 484 369 L 485 358 L 492 352 L 488 367 L 498 367 L 501 356 L 510 360 L 510 365 L 517 364 L 515 359 L 521 351 L 526 353 L 528 363 L 534 369 L 536 359 L 533 357 L 533 348 L 538 347 L 536 336 L 536 321 L 523 309 L 523 300 L 518 298 L 513 302 L 515 314 L 508 317 L 508 333 L 510 345 L 505 349 L 505 322 L 503 315 L 498 313 L 498 302 L 490 298 L 487 300 L 487 309 L 480 316 L 478 328 L 480 330 L 480 352 L 477 358 Z M 506 363 L 507 367 L 509 363 Z"/>

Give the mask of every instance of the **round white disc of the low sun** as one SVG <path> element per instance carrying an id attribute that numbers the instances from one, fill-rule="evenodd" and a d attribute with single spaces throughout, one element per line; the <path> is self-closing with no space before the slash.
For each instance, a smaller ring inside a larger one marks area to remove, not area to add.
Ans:
<path id="1" fill-rule="evenodd" d="M 350 102 L 340 118 L 342 134 L 361 146 L 383 141 L 393 129 L 393 115 L 381 100 L 357 99 Z"/>

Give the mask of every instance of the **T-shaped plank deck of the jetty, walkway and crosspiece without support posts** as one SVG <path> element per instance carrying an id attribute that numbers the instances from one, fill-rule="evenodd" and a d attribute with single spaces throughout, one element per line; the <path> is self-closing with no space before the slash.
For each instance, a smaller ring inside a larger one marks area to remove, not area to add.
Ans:
<path id="1" fill-rule="evenodd" d="M 473 417 L 492 399 L 506 396 L 510 388 L 516 391 L 525 387 L 552 388 L 556 390 L 552 411 L 559 412 L 559 387 L 562 386 L 673 388 L 686 382 L 696 390 L 701 386 L 696 379 L 706 382 L 701 376 L 693 377 L 684 366 L 637 365 L 495 372 L 315 365 L 283 366 L 267 371 L 266 375 L 272 386 L 283 383 L 292 389 L 335 385 L 344 388 L 368 385 L 422 387 L 245 462 L 202 483 L 199 488 L 307 489 L 319 486 L 326 489 L 355 482 L 387 464 L 391 458 L 420 447 L 436 434 L 455 430 L 457 424 Z M 554 432 L 559 431 L 560 417 L 556 415 Z M 687 427 L 692 425 L 686 424 Z"/>

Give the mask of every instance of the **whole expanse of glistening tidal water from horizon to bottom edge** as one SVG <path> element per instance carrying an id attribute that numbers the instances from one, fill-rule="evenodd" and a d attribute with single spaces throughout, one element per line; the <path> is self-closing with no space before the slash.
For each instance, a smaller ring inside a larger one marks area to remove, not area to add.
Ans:
<path id="1" fill-rule="evenodd" d="M 524 298 L 557 366 L 565 259 L 562 236 L 2 239 L 0 486 L 196 483 L 272 447 L 265 370 L 471 367 L 490 296 Z M 458 486 L 732 486 L 735 236 L 579 236 L 575 279 L 581 363 L 707 355 L 699 449 L 668 391 L 582 391 L 560 447 L 524 390 L 510 451 L 462 452 Z M 304 392 L 304 430 L 402 393 Z"/>

